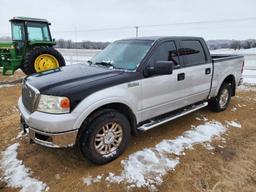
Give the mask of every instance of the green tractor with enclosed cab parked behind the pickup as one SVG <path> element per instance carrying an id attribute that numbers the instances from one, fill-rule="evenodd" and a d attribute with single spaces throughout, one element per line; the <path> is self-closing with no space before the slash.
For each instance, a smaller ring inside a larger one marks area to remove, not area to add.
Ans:
<path id="1" fill-rule="evenodd" d="M 12 42 L 0 42 L 0 67 L 3 75 L 18 68 L 26 75 L 65 66 L 63 56 L 53 48 L 50 23 L 45 19 L 14 17 Z"/>

